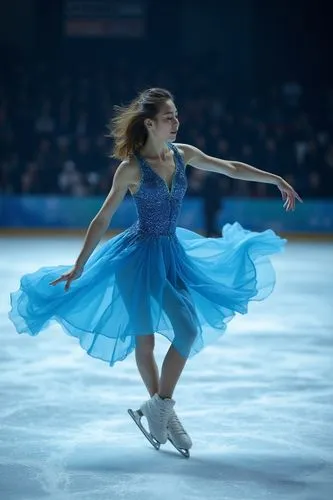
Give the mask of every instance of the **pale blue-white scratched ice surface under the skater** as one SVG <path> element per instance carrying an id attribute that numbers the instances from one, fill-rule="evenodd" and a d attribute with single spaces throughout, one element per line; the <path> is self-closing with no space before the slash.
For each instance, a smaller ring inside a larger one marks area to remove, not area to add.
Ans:
<path id="1" fill-rule="evenodd" d="M 290 242 L 273 294 L 186 365 L 190 459 L 127 414 L 148 396 L 133 354 L 110 368 L 56 325 L 31 338 L 9 322 L 20 276 L 72 264 L 81 243 L 0 239 L 1 500 L 331 500 L 333 243 Z M 167 348 L 158 336 L 159 364 Z"/>

